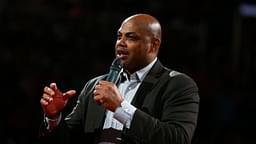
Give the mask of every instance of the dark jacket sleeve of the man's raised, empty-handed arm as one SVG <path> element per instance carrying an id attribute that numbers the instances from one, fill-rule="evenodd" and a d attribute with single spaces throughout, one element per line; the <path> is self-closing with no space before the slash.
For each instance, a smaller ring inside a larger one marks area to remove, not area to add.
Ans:
<path id="1" fill-rule="evenodd" d="M 47 123 L 42 122 L 39 128 L 39 140 L 48 144 L 68 144 L 78 143 L 80 137 L 84 137 L 83 125 L 84 116 L 86 115 L 86 103 L 88 90 L 92 88 L 93 80 L 87 82 L 80 92 L 76 105 L 66 117 L 62 115 L 62 119 L 58 126 L 52 131 L 46 129 Z"/>

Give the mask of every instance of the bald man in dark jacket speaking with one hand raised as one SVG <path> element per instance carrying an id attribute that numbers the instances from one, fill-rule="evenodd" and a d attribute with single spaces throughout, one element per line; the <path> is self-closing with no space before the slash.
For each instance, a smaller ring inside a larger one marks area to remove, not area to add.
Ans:
<path id="1" fill-rule="evenodd" d="M 126 79 L 114 84 L 106 81 L 106 74 L 88 81 L 65 118 L 61 110 L 75 91 L 62 93 L 55 83 L 46 86 L 40 101 L 45 112 L 41 136 L 55 144 L 64 139 L 92 144 L 191 143 L 199 110 L 198 88 L 187 75 L 160 63 L 160 44 L 156 18 L 148 14 L 126 18 L 115 45 Z"/>

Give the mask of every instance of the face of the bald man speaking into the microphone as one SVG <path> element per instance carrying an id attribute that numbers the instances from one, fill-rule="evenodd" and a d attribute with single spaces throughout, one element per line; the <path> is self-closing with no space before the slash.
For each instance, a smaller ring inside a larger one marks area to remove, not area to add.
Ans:
<path id="1" fill-rule="evenodd" d="M 124 68 L 133 73 L 150 62 L 150 33 L 145 26 L 127 21 L 118 30 L 115 48 Z"/>

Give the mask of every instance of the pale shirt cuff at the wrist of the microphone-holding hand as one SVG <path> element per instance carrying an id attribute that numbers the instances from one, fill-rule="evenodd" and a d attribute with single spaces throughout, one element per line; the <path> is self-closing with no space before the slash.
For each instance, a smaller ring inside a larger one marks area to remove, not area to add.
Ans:
<path id="1" fill-rule="evenodd" d="M 114 118 L 122 123 L 126 128 L 130 128 L 136 107 L 124 100 L 121 107 L 118 107 L 114 113 Z"/>

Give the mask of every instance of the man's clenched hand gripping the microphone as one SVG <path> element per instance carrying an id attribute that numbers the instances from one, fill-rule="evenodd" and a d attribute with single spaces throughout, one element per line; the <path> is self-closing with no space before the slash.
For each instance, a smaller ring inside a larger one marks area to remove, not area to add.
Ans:
<path id="1" fill-rule="evenodd" d="M 112 112 L 115 112 L 116 108 L 121 106 L 124 100 L 116 85 L 108 81 L 99 81 L 93 94 L 96 103 L 103 105 Z"/>

